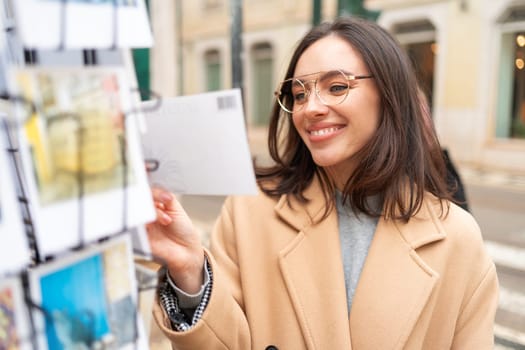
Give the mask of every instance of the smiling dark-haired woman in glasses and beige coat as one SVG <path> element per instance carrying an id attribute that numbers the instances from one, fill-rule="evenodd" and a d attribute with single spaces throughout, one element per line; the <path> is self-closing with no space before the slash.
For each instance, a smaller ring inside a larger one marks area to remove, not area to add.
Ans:
<path id="1" fill-rule="evenodd" d="M 174 349 L 492 349 L 496 270 L 419 89 L 377 24 L 321 24 L 276 89 L 260 193 L 225 201 L 209 250 L 153 189 Z"/>

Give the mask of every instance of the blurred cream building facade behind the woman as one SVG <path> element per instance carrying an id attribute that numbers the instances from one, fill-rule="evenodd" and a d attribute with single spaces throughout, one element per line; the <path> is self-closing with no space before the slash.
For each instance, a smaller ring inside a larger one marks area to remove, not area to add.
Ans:
<path id="1" fill-rule="evenodd" d="M 413 58 L 442 144 L 458 163 L 525 174 L 525 0 L 365 0 Z M 229 0 L 152 0 L 151 86 L 230 88 Z M 243 92 L 254 151 L 313 1 L 243 0 Z M 322 1 L 322 19 L 337 0 Z"/>

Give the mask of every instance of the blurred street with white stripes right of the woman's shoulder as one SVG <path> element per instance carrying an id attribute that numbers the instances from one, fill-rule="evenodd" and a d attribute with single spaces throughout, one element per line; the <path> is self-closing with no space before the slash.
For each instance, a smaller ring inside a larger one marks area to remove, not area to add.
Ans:
<path id="1" fill-rule="evenodd" d="M 466 187 L 498 271 L 497 349 L 525 349 L 525 187 L 480 181 Z"/>

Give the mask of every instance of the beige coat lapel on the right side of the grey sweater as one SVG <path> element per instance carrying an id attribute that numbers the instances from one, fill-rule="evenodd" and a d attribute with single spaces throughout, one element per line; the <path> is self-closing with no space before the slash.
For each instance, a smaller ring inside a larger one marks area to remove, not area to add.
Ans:
<path id="1" fill-rule="evenodd" d="M 409 223 L 380 219 L 354 295 L 354 349 L 402 349 L 439 276 L 416 249 L 445 237 L 426 202 Z"/>

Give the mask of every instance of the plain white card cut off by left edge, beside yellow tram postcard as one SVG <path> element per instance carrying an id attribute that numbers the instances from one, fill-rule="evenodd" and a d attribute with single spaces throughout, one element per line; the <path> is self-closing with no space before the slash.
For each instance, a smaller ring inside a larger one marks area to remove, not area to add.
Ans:
<path id="1" fill-rule="evenodd" d="M 14 162 L 0 113 L 0 276 L 25 268 L 31 259 L 21 206 L 15 193 Z"/>

